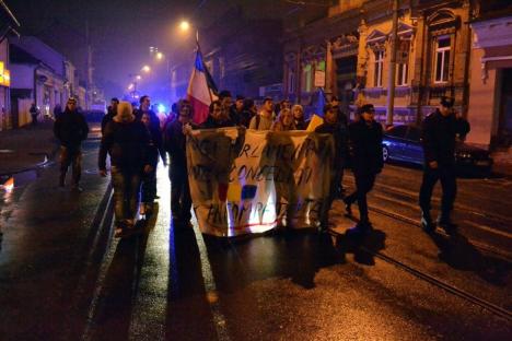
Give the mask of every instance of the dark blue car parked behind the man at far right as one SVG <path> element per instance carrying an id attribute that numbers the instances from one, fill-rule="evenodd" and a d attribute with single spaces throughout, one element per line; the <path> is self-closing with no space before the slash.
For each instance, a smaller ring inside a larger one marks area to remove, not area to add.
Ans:
<path id="1" fill-rule="evenodd" d="M 421 144 L 421 128 L 414 125 L 395 126 L 384 132 L 382 142 L 384 162 L 402 161 L 423 165 L 423 148 Z M 479 170 L 490 173 L 492 158 L 489 152 L 457 142 L 455 148 L 455 164 L 458 170 Z"/>

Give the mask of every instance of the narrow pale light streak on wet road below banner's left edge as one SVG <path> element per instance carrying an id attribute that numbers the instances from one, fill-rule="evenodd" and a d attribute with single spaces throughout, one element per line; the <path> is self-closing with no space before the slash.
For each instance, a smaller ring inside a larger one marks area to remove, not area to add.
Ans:
<path id="1" fill-rule="evenodd" d="M 207 301 L 210 305 L 211 315 L 213 316 L 213 322 L 216 325 L 217 339 L 220 341 L 229 341 L 230 336 L 228 333 L 226 319 L 220 309 L 216 279 L 213 277 L 213 272 L 211 271 L 210 261 L 208 260 L 207 247 L 205 245 L 205 240 L 202 239 L 201 232 L 199 231 L 199 226 L 197 225 L 197 221 L 194 222 L 194 234 L 196 235 L 197 246 L 199 248 L 202 280 L 205 281 Z"/>

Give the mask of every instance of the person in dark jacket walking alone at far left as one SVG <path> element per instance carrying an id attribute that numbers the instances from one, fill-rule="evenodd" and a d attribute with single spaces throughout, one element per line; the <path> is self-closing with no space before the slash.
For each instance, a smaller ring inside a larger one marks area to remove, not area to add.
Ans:
<path id="1" fill-rule="evenodd" d="M 81 191 L 82 174 L 82 141 L 88 138 L 89 126 L 85 117 L 77 109 L 77 99 L 70 97 L 66 110 L 54 124 L 54 134 L 60 142 L 60 176 L 59 186 L 65 187 L 66 174 L 72 164 L 72 188 Z"/>

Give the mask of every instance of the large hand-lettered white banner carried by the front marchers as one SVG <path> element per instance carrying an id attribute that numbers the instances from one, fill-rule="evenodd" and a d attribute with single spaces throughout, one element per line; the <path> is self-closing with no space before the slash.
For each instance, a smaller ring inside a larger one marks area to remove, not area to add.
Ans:
<path id="1" fill-rule="evenodd" d="M 235 236 L 287 224 L 316 227 L 334 143 L 307 131 L 197 130 L 187 141 L 194 211 L 202 233 Z"/>

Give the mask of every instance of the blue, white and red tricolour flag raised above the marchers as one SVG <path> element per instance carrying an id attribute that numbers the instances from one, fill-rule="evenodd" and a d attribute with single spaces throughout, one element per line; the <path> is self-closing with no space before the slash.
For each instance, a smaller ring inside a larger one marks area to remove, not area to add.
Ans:
<path id="1" fill-rule="evenodd" d="M 208 118 L 210 104 L 218 99 L 216 93 L 216 84 L 202 62 L 202 55 L 198 46 L 196 62 L 187 89 L 187 98 L 194 108 L 194 121 L 196 124 L 202 124 Z"/>

